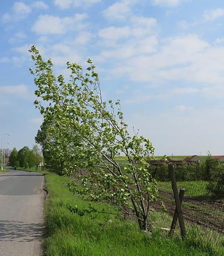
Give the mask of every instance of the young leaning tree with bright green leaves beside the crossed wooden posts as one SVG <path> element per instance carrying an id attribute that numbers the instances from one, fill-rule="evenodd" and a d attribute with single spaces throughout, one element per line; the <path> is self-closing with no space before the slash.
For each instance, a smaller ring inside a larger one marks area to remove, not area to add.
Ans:
<path id="1" fill-rule="evenodd" d="M 62 75 L 53 75 L 51 59 L 44 61 L 35 46 L 30 52 L 36 66 L 35 71 L 30 69 L 37 86 L 34 104 L 45 125 L 51 119 L 55 122 L 47 134 L 63 138 L 72 152 L 72 162 L 64 168 L 74 172 L 70 188 L 85 198 L 115 205 L 135 217 L 140 230 L 147 230 L 151 202 L 157 196 L 146 160 L 154 154 L 150 140 L 128 133 L 119 101 L 102 101 L 98 74 L 90 59 L 86 71 L 81 65 L 67 63 L 71 72 L 67 83 Z M 52 147 L 55 155 L 63 154 L 63 142 Z M 116 160 L 120 155 L 128 160 L 125 168 Z"/>

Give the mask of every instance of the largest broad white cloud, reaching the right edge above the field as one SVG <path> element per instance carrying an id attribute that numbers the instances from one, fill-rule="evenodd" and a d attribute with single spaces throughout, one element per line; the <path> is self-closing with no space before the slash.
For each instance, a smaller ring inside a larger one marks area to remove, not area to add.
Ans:
<path id="1" fill-rule="evenodd" d="M 198 83 L 224 82 L 224 47 L 213 47 L 196 35 L 177 36 L 163 40 L 155 54 L 144 54 L 120 61 L 115 67 L 134 81 L 160 84 L 165 81 L 185 80 Z M 113 51 L 113 50 L 111 50 Z M 126 67 L 125 70 L 123 67 Z M 123 69 L 122 72 L 119 69 Z"/>

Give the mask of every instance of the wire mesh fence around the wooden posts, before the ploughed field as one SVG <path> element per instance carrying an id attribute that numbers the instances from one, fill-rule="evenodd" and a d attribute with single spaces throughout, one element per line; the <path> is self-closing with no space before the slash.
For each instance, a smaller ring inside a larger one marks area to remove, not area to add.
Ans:
<path id="1" fill-rule="evenodd" d="M 224 246 L 224 200 L 211 197 L 207 186 L 205 180 L 177 181 L 178 190 L 185 189 L 181 207 L 186 232 L 197 226 L 213 243 Z M 169 232 L 176 208 L 171 181 L 158 181 L 158 189 L 159 199 L 152 204 L 152 225 Z M 163 212 L 162 204 L 166 212 Z M 180 235 L 178 224 L 175 233 Z"/>

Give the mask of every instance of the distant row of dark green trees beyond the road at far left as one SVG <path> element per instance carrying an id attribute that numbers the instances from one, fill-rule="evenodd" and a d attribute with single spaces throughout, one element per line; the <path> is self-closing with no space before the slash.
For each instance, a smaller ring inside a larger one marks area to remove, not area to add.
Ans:
<path id="1" fill-rule="evenodd" d="M 19 151 L 17 151 L 14 147 L 9 156 L 10 166 L 16 166 L 25 169 L 32 167 L 36 167 L 36 169 L 38 169 L 42 161 L 42 151 L 36 145 L 32 147 L 32 149 L 25 146 Z"/>

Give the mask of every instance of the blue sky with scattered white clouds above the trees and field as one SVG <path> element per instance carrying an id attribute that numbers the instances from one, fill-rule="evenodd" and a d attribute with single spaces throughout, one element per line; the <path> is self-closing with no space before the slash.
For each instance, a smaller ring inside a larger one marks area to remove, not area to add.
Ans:
<path id="1" fill-rule="evenodd" d="M 206 0 L 2 1 L 0 132 L 32 147 L 42 122 L 28 48 L 65 63 L 97 66 L 105 100 L 155 155 L 223 155 L 224 2 Z M 7 145 L 8 146 L 8 145 Z"/>

